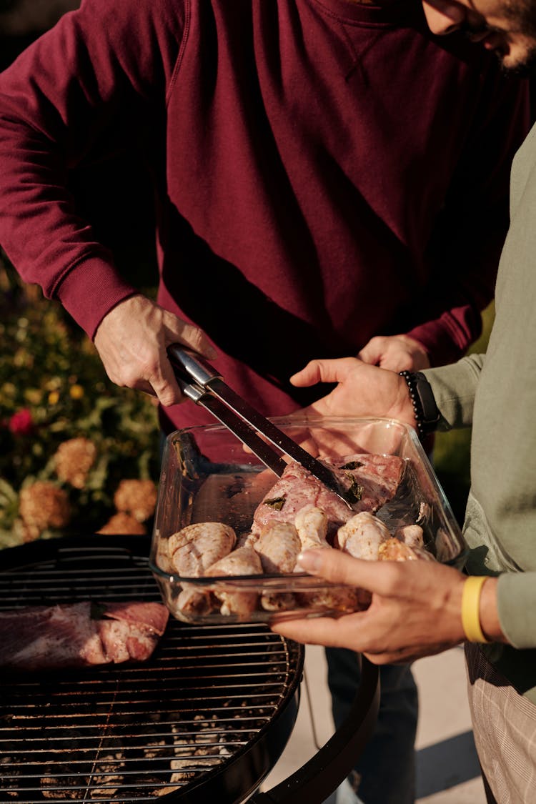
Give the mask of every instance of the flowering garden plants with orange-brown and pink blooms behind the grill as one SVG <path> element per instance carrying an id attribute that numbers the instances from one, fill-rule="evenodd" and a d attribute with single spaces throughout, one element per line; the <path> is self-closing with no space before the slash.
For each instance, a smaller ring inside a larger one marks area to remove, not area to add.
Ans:
<path id="1" fill-rule="evenodd" d="M 152 401 L 111 383 L 63 308 L 1 255 L 0 293 L 0 547 L 146 532 L 159 471 Z"/>

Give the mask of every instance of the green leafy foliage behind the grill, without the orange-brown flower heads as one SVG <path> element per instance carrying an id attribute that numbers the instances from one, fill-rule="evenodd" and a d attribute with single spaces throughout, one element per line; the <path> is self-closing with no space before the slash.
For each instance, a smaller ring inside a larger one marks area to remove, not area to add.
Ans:
<path id="1" fill-rule="evenodd" d="M 2 256 L 0 292 L 0 546 L 18 544 L 19 492 L 36 480 L 68 493 L 70 531 L 97 530 L 115 512 L 122 479 L 158 482 L 156 408 L 111 383 L 82 330 L 34 286 L 23 286 Z M 53 460 L 76 437 L 96 446 L 81 490 L 60 482 Z"/>

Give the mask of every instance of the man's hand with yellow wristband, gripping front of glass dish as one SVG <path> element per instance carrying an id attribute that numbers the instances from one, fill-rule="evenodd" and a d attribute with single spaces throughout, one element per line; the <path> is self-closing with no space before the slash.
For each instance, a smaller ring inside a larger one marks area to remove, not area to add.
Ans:
<path id="1" fill-rule="evenodd" d="M 300 566 L 315 576 L 367 589 L 366 611 L 338 619 L 274 623 L 278 634 L 307 645 L 345 647 L 374 664 L 411 662 L 464 641 L 461 596 L 465 576 L 435 561 L 362 561 L 330 549 L 308 550 Z M 486 581 L 486 585 L 495 579 Z"/>

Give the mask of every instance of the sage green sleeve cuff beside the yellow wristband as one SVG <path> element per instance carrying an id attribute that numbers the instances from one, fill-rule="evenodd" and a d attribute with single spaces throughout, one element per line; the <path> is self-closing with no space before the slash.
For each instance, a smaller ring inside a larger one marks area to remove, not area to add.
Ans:
<path id="1" fill-rule="evenodd" d="M 501 629 L 516 648 L 536 648 L 536 572 L 505 572 L 497 584 Z"/>

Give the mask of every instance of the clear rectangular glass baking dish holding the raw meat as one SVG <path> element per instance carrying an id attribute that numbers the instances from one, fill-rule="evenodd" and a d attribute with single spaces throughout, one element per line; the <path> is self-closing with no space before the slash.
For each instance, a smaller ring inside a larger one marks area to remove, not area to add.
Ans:
<path id="1" fill-rule="evenodd" d="M 399 486 L 395 496 L 376 511 L 378 519 L 391 533 L 419 524 L 429 554 L 444 564 L 463 566 L 466 549 L 460 527 L 413 429 L 387 419 L 271 420 L 321 459 L 355 453 L 399 457 L 403 466 Z M 177 574 L 168 551 L 172 535 L 194 523 L 216 522 L 233 528 L 240 539 L 250 531 L 256 508 L 277 480 L 221 425 L 181 429 L 166 438 L 149 566 L 163 601 L 178 620 L 268 622 L 337 616 L 362 608 L 363 598 L 355 590 L 301 572 L 224 577 Z M 223 605 L 222 601 L 230 600 L 245 605 Z"/>

